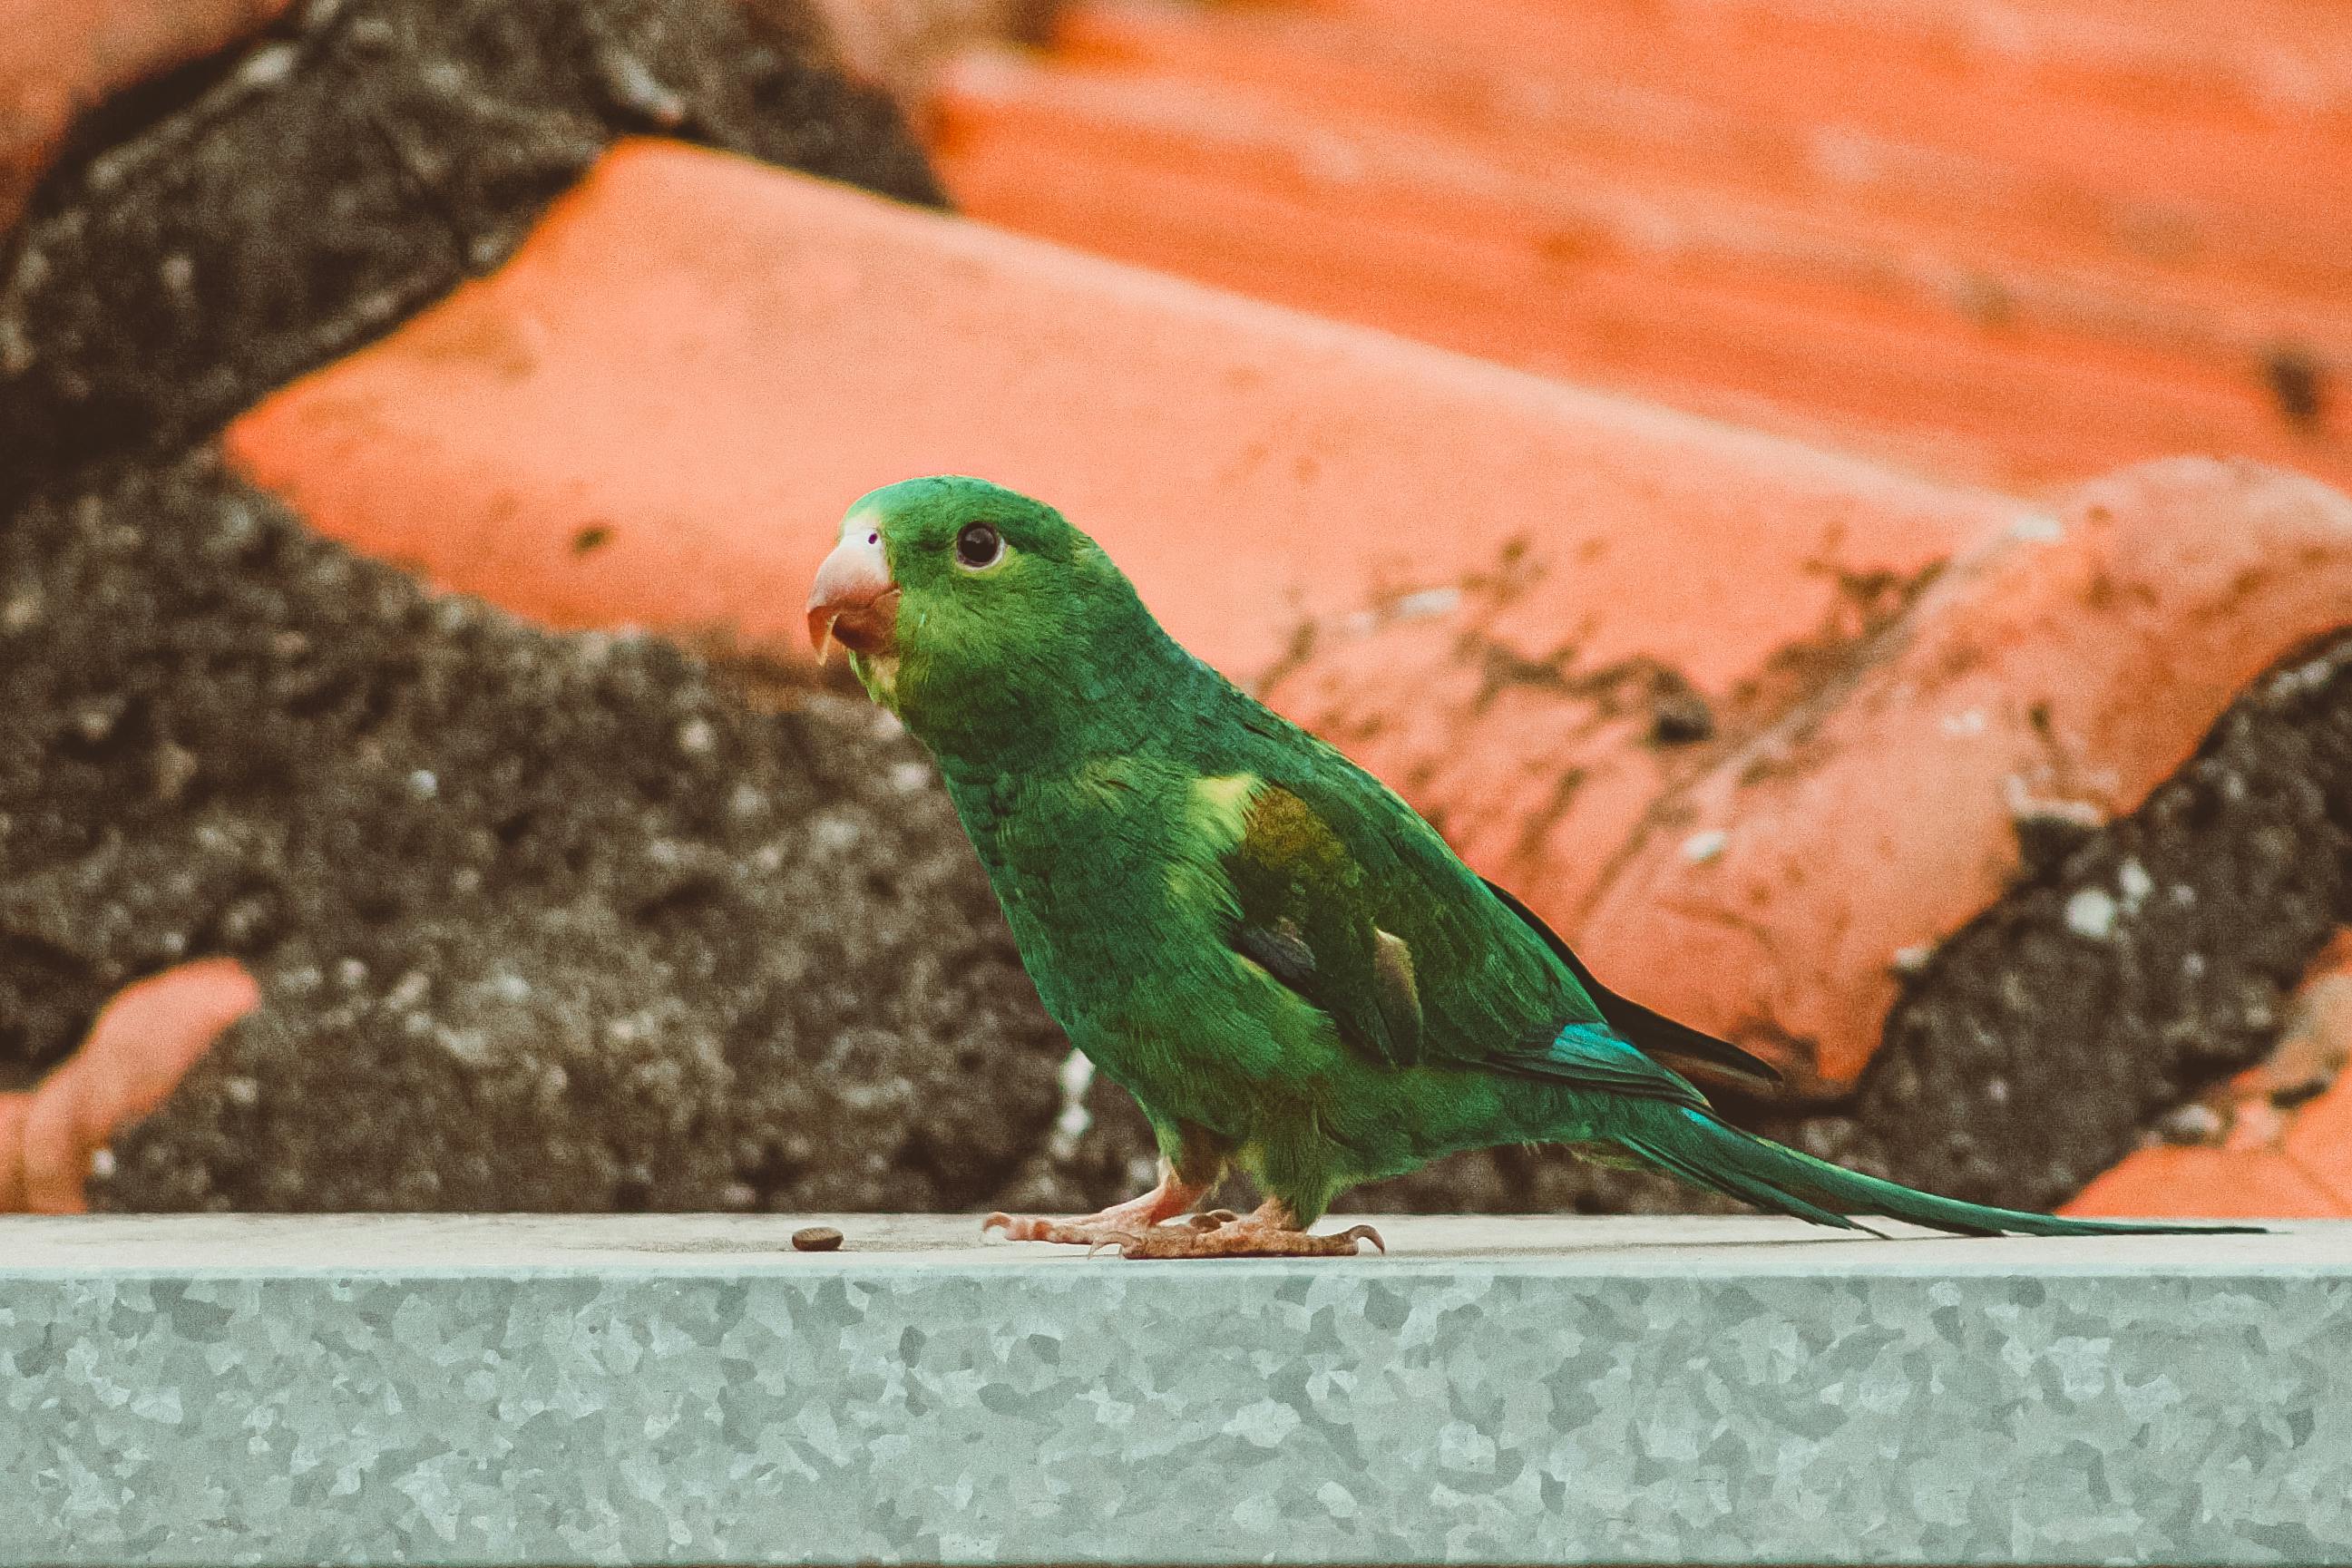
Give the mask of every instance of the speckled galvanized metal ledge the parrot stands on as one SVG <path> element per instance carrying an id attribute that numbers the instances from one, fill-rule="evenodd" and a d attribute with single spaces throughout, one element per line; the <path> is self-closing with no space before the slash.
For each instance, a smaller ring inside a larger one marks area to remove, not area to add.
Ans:
<path id="1" fill-rule="evenodd" d="M 2352 1225 L 802 1222 L 0 1220 L 0 1563 L 2352 1561 Z"/>

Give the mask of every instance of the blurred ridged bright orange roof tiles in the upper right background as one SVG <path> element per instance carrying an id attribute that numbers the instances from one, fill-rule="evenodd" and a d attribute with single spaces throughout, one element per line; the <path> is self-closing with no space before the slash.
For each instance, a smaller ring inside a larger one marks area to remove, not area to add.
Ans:
<path id="1" fill-rule="evenodd" d="M 2216 129 L 2060 94 L 2056 122 L 1955 108 L 1922 141 L 1783 75 L 1733 92 L 1724 73 L 1780 71 L 1788 45 L 1750 38 L 1755 7 L 1715 9 L 1740 12 L 1726 38 L 1611 5 L 1573 26 L 1084 5 L 1065 59 L 950 73 L 934 148 L 993 221 L 1971 480 L 2171 451 L 2352 480 L 2352 411 L 2326 395 L 2352 367 L 2352 202 L 2312 172 L 2333 120 L 2234 108 Z M 1999 136 L 1971 129 L 1992 118 Z M 2164 146 L 2171 207 L 2117 183 L 2103 139 Z M 2201 195 L 2173 179 L 2194 158 Z"/>

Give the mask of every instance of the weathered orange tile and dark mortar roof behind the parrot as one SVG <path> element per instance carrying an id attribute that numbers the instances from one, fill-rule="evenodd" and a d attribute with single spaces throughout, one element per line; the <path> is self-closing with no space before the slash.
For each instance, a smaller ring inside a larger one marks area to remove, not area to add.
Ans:
<path id="1" fill-rule="evenodd" d="M 2343 7 L 0 24 L 0 1208 L 1148 1182 L 797 642 L 962 470 L 1776 1060 L 1743 1124 L 2352 1215 Z"/>

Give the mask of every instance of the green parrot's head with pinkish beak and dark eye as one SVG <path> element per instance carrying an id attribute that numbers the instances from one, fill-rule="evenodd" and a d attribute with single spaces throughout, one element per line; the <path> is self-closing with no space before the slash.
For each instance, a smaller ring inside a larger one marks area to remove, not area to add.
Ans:
<path id="1" fill-rule="evenodd" d="M 861 496 L 809 590 L 809 639 L 941 757 L 1051 738 L 1143 691 L 1167 644 L 1134 585 L 1061 512 L 938 475 Z"/>

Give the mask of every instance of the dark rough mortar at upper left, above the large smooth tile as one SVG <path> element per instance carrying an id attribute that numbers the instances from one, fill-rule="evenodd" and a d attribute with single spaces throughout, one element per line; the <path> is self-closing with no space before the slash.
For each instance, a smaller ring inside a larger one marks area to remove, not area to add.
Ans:
<path id="1" fill-rule="evenodd" d="M 802 7 L 310 0 L 75 132 L 0 273 L 0 501 L 167 454 L 520 242 L 619 134 L 936 202 Z"/>

